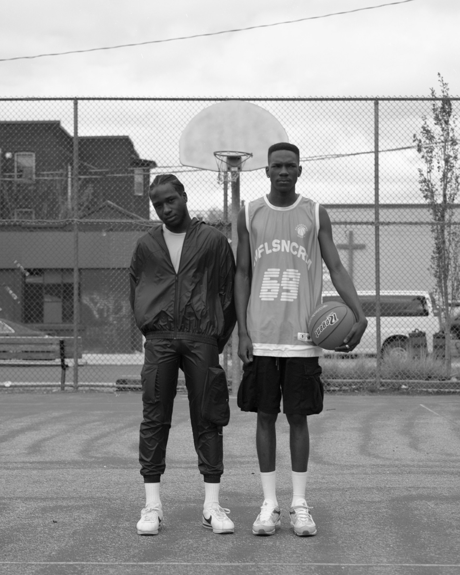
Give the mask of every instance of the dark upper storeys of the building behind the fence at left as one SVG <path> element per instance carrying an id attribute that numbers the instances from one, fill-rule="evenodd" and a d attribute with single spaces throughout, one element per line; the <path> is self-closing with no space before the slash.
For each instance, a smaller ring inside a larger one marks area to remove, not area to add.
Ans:
<path id="1" fill-rule="evenodd" d="M 145 219 L 153 160 L 129 136 L 79 137 L 79 216 L 111 201 Z M 72 216 L 73 139 L 60 121 L 0 122 L 0 218 Z"/>

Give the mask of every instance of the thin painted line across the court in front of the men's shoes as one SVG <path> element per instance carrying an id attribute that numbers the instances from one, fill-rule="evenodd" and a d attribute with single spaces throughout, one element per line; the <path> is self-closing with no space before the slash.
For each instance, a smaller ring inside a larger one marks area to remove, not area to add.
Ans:
<path id="1" fill-rule="evenodd" d="M 310 566 L 310 567 L 460 567 L 460 563 L 204 563 L 179 562 L 179 561 L 0 561 L 0 565 L 215 565 L 242 567 L 252 565 L 286 565 L 286 566 Z"/>

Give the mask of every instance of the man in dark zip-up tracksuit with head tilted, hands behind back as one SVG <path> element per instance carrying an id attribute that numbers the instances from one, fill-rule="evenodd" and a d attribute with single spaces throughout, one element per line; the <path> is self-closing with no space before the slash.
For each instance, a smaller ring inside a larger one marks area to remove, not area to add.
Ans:
<path id="1" fill-rule="evenodd" d="M 158 175 L 150 186 L 150 198 L 163 224 L 137 241 L 129 270 L 131 306 L 146 339 L 139 440 L 146 501 L 137 533 L 158 534 L 163 519 L 160 476 L 179 366 L 185 373 L 198 469 L 204 476 L 202 524 L 214 533 L 233 533 L 229 510 L 220 507 L 218 500 L 224 470 L 221 425 L 225 423 L 216 411 L 222 406 L 206 404 L 202 412 L 202 400 L 206 378 L 206 389 L 210 382 L 221 392 L 224 386 L 228 397 L 218 354 L 236 323 L 235 260 L 223 233 L 190 217 L 187 194 L 174 175 Z M 228 409 L 225 397 L 223 402 Z"/>

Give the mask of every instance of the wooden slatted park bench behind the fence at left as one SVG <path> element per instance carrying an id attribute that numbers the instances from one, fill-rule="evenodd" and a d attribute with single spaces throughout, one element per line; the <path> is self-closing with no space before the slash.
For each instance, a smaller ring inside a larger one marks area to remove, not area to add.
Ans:
<path id="1" fill-rule="evenodd" d="M 72 337 L 0 336 L 0 365 L 7 367 L 55 366 L 55 360 L 60 359 L 60 386 L 63 390 L 68 369 L 66 359 L 74 358 L 74 345 L 75 340 Z M 77 346 L 78 358 L 81 358 L 82 338 L 77 338 Z M 17 362 L 15 363 L 14 360 Z"/>

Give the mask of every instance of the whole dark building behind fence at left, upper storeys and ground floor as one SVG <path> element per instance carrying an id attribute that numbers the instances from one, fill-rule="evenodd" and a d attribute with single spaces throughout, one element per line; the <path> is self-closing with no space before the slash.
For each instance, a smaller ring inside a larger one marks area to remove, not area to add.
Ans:
<path id="1" fill-rule="evenodd" d="M 127 268 L 137 237 L 151 225 L 155 166 L 129 136 L 79 137 L 79 332 L 86 352 L 141 346 Z M 62 221 L 72 216 L 72 171 L 72 136 L 59 121 L 0 122 L 0 317 L 51 335 L 73 332 L 73 233 Z"/>

